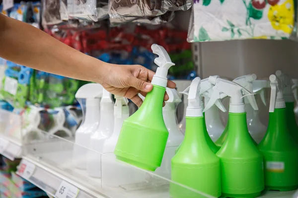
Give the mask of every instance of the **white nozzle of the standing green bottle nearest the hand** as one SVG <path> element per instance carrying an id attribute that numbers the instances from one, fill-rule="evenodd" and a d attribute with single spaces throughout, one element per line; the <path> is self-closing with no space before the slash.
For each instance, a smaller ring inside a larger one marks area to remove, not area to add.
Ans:
<path id="1" fill-rule="evenodd" d="M 200 96 L 200 84 L 201 78 L 196 77 L 190 84 L 188 88 L 186 88 L 182 94 L 188 96 L 188 105 L 186 108 L 186 116 L 187 117 L 202 117 L 202 106 L 201 106 L 201 96 Z"/>

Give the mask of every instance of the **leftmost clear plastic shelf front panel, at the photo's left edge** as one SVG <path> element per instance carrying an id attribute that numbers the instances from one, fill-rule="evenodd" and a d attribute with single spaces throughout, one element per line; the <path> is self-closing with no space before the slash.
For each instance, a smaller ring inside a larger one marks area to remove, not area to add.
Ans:
<path id="1" fill-rule="evenodd" d="M 21 116 L 0 109 L 0 154 L 14 160 L 22 156 Z"/>

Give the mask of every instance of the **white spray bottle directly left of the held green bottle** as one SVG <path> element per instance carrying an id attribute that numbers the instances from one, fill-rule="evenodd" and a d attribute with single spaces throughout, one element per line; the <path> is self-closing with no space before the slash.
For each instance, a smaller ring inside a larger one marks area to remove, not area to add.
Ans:
<path id="1" fill-rule="evenodd" d="M 102 153 L 114 152 L 123 121 L 129 117 L 128 99 L 115 96 L 114 104 L 114 131 L 113 134 L 104 142 Z"/>

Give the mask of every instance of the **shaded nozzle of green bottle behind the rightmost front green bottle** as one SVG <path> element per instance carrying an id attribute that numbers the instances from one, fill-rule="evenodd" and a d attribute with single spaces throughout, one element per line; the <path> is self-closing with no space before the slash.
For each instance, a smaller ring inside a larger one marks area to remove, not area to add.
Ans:
<path id="1" fill-rule="evenodd" d="M 286 102 L 294 102 L 294 95 L 292 92 L 293 81 L 292 79 L 284 74 L 281 70 L 277 70 L 275 72 L 277 78 L 279 78 L 281 82 L 281 88 L 283 90 L 284 99 Z"/>

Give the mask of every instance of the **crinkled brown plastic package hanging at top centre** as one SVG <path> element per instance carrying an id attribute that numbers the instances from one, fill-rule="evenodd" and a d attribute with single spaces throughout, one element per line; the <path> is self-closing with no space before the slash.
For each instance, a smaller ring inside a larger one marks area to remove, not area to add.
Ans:
<path id="1" fill-rule="evenodd" d="M 159 16 L 167 11 L 188 10 L 191 5 L 192 0 L 110 0 L 109 15 L 111 18 Z"/>

